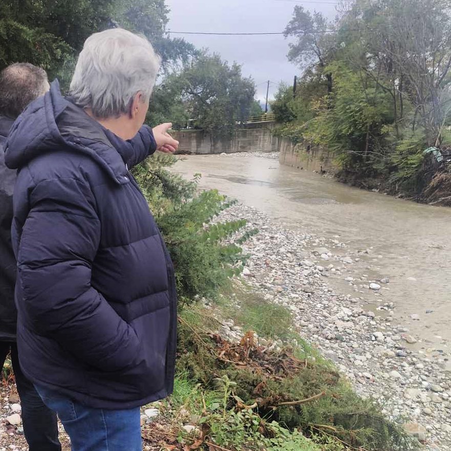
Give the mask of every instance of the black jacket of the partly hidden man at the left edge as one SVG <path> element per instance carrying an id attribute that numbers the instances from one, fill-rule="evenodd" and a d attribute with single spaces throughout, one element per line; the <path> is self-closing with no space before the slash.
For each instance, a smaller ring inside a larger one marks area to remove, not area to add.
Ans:
<path id="1" fill-rule="evenodd" d="M 0 116 L 0 340 L 16 339 L 16 263 L 11 245 L 12 194 L 16 171 L 5 166 L 4 147 L 12 119 Z"/>

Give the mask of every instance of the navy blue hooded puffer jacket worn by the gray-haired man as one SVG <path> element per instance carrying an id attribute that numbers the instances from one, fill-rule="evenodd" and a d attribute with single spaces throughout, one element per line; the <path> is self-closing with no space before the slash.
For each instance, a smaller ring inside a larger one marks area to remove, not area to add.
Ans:
<path id="1" fill-rule="evenodd" d="M 150 128 L 123 141 L 57 82 L 7 141 L 20 364 L 87 406 L 127 409 L 173 389 L 173 266 L 128 172 L 155 147 Z"/>

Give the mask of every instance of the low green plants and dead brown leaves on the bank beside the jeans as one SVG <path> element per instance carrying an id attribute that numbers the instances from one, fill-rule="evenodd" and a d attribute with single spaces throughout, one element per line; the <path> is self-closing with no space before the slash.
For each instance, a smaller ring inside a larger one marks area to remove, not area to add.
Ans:
<path id="1" fill-rule="evenodd" d="M 233 302 L 238 316 L 248 307 L 246 295 L 243 299 Z M 268 302 L 261 298 L 260 304 Z M 201 307 L 182 313 L 178 365 L 185 378 L 210 393 L 207 398 L 218 389 L 222 393 L 222 399 L 206 404 L 201 420 L 219 445 L 249 451 L 416 449 L 384 418 L 380 406 L 359 398 L 332 364 L 295 333 L 278 351 L 258 346 L 253 332 L 230 343 L 208 332 L 209 315 Z M 277 335 L 291 324 L 275 323 Z"/>

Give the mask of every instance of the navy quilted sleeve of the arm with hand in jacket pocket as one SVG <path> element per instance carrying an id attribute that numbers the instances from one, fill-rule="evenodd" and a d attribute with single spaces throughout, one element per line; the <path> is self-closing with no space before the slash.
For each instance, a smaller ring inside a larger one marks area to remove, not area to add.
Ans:
<path id="1" fill-rule="evenodd" d="M 93 367 L 135 366 L 134 329 L 91 286 L 100 223 L 89 184 L 42 181 L 30 192 L 29 207 L 17 252 L 28 321 Z"/>

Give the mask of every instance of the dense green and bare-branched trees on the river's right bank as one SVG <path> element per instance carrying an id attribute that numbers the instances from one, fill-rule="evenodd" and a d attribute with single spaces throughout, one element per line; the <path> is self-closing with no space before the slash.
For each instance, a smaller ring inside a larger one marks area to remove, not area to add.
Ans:
<path id="1" fill-rule="evenodd" d="M 296 6 L 285 34 L 304 74 L 273 102 L 281 133 L 329 148 L 348 174 L 421 188 L 423 151 L 451 144 L 445 3 L 341 2 L 333 23 Z"/>

